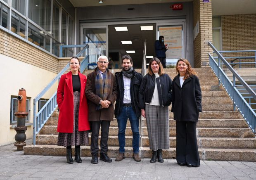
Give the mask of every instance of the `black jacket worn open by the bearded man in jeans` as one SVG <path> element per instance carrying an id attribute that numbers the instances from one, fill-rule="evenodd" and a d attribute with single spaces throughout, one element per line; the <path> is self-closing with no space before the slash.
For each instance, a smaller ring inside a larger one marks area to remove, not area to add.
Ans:
<path id="1" fill-rule="evenodd" d="M 117 82 L 117 99 L 116 99 L 116 105 L 115 105 L 115 117 L 119 115 L 122 111 L 123 107 L 123 96 L 124 96 L 124 84 L 123 84 L 123 73 L 122 72 L 116 72 L 116 82 Z M 138 106 L 138 95 L 139 95 L 139 88 L 142 81 L 142 75 L 141 73 L 137 73 L 135 70 L 133 70 L 133 78 L 130 80 L 130 98 L 132 101 L 132 107 L 135 111 L 137 117 L 140 116 L 140 108 Z"/>

